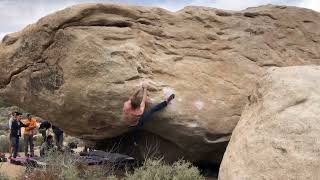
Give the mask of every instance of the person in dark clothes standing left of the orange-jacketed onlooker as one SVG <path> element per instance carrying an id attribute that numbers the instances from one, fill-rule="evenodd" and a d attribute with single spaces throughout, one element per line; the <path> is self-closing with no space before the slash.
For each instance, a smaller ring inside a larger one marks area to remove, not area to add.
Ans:
<path id="1" fill-rule="evenodd" d="M 16 158 L 19 151 L 19 139 L 21 137 L 21 128 L 28 127 L 21 122 L 22 114 L 17 112 L 16 117 L 13 119 L 10 131 L 10 143 L 13 149 L 13 158 Z"/>

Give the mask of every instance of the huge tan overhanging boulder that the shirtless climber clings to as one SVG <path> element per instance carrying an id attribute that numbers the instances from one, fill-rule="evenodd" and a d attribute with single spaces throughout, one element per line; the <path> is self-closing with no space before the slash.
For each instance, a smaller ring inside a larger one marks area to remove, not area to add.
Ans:
<path id="1" fill-rule="evenodd" d="M 320 63 L 318 29 L 319 13 L 285 6 L 73 6 L 3 38 L 0 95 L 95 142 L 128 131 L 123 102 L 147 82 L 149 105 L 176 99 L 145 133 L 189 160 L 219 162 L 266 67 Z"/>

